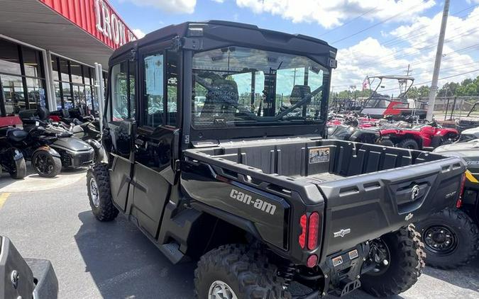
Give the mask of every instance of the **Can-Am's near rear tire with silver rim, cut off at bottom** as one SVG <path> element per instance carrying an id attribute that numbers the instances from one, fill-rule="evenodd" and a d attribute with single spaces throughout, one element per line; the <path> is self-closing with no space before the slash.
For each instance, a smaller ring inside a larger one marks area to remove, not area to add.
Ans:
<path id="1" fill-rule="evenodd" d="M 229 244 L 204 254 L 194 271 L 197 299 L 290 299 L 277 267 L 259 251 Z"/>

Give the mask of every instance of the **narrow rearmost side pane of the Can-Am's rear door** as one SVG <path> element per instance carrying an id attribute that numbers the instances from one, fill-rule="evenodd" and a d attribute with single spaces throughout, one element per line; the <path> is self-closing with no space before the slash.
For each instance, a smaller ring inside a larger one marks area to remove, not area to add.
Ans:
<path id="1" fill-rule="evenodd" d="M 168 51 L 166 55 L 167 69 L 167 113 L 166 125 L 177 126 L 178 99 L 178 53 Z"/>

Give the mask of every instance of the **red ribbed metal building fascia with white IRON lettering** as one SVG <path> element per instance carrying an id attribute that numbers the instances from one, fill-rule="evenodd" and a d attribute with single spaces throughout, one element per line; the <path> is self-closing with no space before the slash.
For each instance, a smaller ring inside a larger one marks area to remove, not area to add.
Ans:
<path id="1" fill-rule="evenodd" d="M 136 40 L 118 13 L 106 0 L 38 0 L 64 16 L 105 45 L 116 49 Z"/>

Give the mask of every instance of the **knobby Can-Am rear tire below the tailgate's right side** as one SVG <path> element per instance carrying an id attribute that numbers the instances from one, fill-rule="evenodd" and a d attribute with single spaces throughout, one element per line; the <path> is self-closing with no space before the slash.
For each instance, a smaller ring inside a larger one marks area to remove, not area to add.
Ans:
<path id="1" fill-rule="evenodd" d="M 414 225 L 380 237 L 390 252 L 387 269 L 364 273 L 361 288 L 376 297 L 397 295 L 411 288 L 424 269 L 424 244 Z"/>

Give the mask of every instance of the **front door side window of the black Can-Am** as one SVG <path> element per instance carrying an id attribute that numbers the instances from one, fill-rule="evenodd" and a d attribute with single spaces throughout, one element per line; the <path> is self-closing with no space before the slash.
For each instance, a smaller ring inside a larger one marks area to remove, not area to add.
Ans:
<path id="1" fill-rule="evenodd" d="M 113 120 L 128 118 L 128 78 L 126 62 L 111 68 L 111 108 Z"/>

